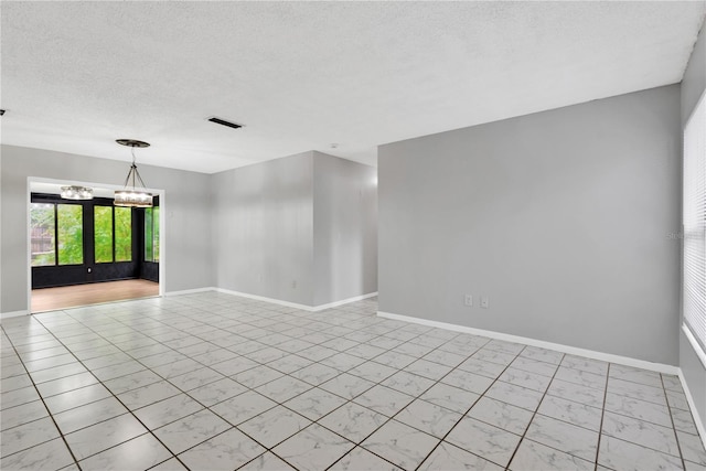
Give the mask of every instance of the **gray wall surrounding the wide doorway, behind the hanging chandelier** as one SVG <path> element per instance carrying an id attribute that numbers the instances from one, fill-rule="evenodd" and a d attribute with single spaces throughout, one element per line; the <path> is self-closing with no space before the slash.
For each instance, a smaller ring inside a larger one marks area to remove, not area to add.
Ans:
<path id="1" fill-rule="evenodd" d="M 2 146 L 0 151 L 0 312 L 14 312 L 28 309 L 28 178 L 121 185 L 129 162 L 13 146 Z M 139 165 L 139 169 L 150 188 L 165 191 L 165 291 L 212 286 L 211 247 L 205 243 L 211 238 L 210 176 L 150 165 Z"/>

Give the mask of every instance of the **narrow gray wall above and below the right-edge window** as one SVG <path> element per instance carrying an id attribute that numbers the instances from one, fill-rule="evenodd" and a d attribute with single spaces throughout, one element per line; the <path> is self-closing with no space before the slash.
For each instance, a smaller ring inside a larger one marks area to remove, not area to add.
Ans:
<path id="1" fill-rule="evenodd" d="M 682 82 L 682 125 L 691 116 L 706 89 L 706 31 L 702 29 Z M 680 330 L 680 367 L 688 385 L 696 413 L 706 425 L 706 366 L 698 360 L 694 349 Z"/>

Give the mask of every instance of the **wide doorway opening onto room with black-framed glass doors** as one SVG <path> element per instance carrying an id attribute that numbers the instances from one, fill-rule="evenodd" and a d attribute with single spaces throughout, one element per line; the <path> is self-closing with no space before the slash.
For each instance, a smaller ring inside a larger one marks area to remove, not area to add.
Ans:
<path id="1" fill-rule="evenodd" d="M 114 188 L 66 200 L 66 182 L 30 181 L 29 306 L 43 312 L 163 295 L 162 203 L 121 207 Z"/>

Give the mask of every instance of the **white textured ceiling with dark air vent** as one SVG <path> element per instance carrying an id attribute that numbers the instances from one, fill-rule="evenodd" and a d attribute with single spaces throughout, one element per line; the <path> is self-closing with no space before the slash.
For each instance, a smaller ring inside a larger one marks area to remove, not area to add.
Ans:
<path id="1" fill-rule="evenodd" d="M 677 83 L 706 2 L 0 8 L 3 143 L 211 173 Z"/>

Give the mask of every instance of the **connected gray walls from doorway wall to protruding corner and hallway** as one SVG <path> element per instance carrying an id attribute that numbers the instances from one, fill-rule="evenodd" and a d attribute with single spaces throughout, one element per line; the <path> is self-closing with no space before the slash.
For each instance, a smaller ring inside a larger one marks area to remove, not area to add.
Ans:
<path id="1" fill-rule="evenodd" d="M 0 312 L 14 312 L 28 309 L 28 178 L 120 185 L 129 163 L 1 150 Z M 167 292 L 215 286 L 318 306 L 377 290 L 375 169 L 318 152 L 213 175 L 139 168 L 165 191 Z"/>

